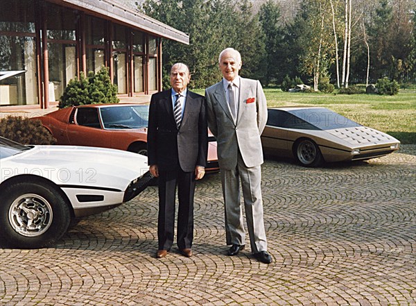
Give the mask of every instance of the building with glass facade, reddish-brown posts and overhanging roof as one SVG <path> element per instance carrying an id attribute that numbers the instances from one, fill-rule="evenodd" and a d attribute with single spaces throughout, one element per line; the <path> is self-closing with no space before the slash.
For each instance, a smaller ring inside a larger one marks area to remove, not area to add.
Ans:
<path id="1" fill-rule="evenodd" d="M 162 38 L 189 36 L 110 0 L 1 0 L 0 106 L 58 101 L 80 72 L 109 67 L 119 95 L 162 90 Z"/>

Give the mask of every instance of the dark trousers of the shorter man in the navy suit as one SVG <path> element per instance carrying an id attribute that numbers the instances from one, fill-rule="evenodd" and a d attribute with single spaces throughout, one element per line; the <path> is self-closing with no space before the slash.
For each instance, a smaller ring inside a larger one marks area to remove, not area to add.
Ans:
<path id="1" fill-rule="evenodd" d="M 195 193 L 195 173 L 182 169 L 159 170 L 159 217 L 157 239 L 159 250 L 170 250 L 175 231 L 175 194 L 179 208 L 177 212 L 177 247 L 191 248 L 193 240 L 193 195 Z"/>

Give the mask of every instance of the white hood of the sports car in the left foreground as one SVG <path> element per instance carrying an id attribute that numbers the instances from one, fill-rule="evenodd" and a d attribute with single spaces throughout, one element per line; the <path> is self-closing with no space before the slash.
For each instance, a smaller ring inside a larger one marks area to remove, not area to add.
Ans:
<path id="1" fill-rule="evenodd" d="M 87 146 L 33 146 L 1 160 L 2 180 L 32 174 L 57 185 L 107 187 L 124 190 L 148 171 L 143 155 Z"/>

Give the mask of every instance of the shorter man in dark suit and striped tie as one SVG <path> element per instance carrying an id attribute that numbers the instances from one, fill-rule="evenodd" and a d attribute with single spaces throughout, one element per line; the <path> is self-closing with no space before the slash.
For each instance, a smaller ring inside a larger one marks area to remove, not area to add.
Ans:
<path id="1" fill-rule="evenodd" d="M 150 101 L 148 164 L 159 178 L 157 258 L 165 257 L 173 244 L 176 186 L 177 247 L 182 255 L 192 256 L 193 196 L 196 180 L 205 173 L 208 128 L 205 99 L 187 90 L 190 78 L 187 65 L 173 65 L 172 88 L 153 94 Z"/>

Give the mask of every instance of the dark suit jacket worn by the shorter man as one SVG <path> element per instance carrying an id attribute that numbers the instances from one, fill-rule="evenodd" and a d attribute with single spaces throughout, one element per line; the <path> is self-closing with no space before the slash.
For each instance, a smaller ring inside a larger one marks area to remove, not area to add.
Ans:
<path id="1" fill-rule="evenodd" d="M 194 171 L 205 167 L 208 151 L 207 112 L 204 96 L 187 92 L 179 130 L 173 117 L 171 90 L 152 95 L 148 120 L 148 164 L 159 170 L 180 167 Z"/>

